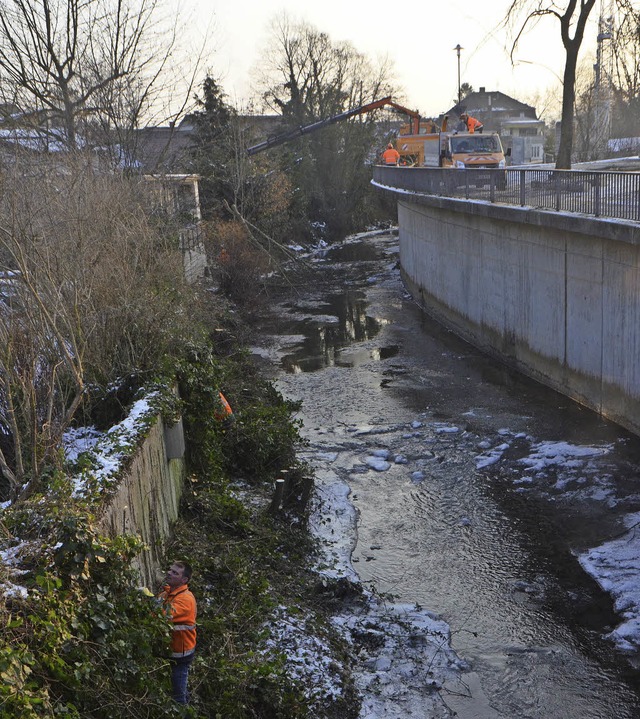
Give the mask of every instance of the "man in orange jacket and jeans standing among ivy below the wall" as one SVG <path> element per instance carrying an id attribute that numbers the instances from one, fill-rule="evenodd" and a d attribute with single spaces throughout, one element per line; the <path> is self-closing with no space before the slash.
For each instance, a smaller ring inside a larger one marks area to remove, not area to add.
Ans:
<path id="1" fill-rule="evenodd" d="M 163 611 L 173 624 L 171 636 L 171 689 L 178 704 L 189 703 L 187 679 L 196 650 L 196 598 L 189 590 L 192 570 L 186 562 L 174 562 L 160 592 Z"/>

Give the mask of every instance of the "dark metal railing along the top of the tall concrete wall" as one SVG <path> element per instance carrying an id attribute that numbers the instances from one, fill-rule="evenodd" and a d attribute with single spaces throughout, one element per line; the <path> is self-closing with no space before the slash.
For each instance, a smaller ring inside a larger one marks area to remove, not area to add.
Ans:
<path id="1" fill-rule="evenodd" d="M 374 182 L 400 191 L 640 222 L 640 173 L 376 165 Z"/>

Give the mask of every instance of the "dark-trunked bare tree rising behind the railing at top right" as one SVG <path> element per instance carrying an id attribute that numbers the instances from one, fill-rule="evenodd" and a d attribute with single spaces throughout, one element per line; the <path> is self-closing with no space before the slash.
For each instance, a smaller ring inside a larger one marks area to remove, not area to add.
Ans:
<path id="1" fill-rule="evenodd" d="M 512 60 L 520 38 L 530 26 L 547 16 L 555 18 L 560 23 L 565 65 L 562 86 L 562 128 L 556 160 L 556 167 L 559 169 L 571 167 L 578 54 L 587 20 L 594 5 L 595 0 L 569 0 L 563 10 L 554 0 L 513 0 L 505 16 L 505 24 L 516 28 L 515 39 L 511 46 Z"/>

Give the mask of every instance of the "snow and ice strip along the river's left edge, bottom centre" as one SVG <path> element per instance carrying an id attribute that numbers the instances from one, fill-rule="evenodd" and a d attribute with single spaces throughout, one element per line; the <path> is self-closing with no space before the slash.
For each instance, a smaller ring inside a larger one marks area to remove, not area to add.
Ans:
<path id="1" fill-rule="evenodd" d="M 351 564 L 357 516 L 349 487 L 320 466 L 331 457 L 318 454 L 315 459 L 310 528 L 321 551 L 317 571 L 327 580 L 355 585 L 360 593 L 334 618 L 358 659 L 355 680 L 364 697 L 360 719 L 450 717 L 440 690 L 459 682 L 467 667 L 451 649 L 448 625 L 421 607 L 394 603 L 362 587 Z"/>

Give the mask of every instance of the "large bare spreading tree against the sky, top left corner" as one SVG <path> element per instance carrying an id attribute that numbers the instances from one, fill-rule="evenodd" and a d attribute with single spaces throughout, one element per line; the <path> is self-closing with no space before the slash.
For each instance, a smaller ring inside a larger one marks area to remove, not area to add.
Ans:
<path id="1" fill-rule="evenodd" d="M 72 148 L 80 129 L 134 126 L 175 41 L 165 31 L 161 1 L 0 3 L 5 120 L 30 120 Z"/>

